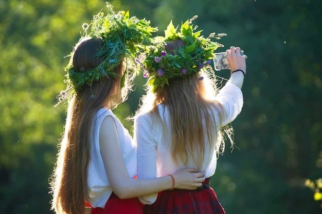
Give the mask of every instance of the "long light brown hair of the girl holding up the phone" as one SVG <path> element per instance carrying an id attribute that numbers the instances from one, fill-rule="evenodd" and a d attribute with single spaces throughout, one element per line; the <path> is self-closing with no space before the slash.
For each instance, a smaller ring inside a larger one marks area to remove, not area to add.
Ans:
<path id="1" fill-rule="evenodd" d="M 165 49 L 171 54 L 185 46 L 181 40 L 168 41 Z M 200 77 L 203 80 L 200 80 Z M 224 118 L 222 106 L 214 101 L 217 93 L 214 80 L 210 80 L 207 73 L 199 72 L 186 78 L 169 80 L 169 85 L 158 87 L 154 92 L 147 89 L 147 95 L 142 99 L 142 105 L 137 114 L 150 112 L 153 121 L 161 121 L 157 105 L 165 105 L 169 110 L 170 127 L 163 124 L 164 133 L 171 133 L 170 148 L 172 158 L 184 164 L 192 157 L 196 166 L 201 167 L 206 151 L 206 139 L 210 148 L 215 145 L 217 153 L 224 148 L 222 132 L 217 133 L 216 124 Z M 213 108 L 219 113 L 219 120 L 211 113 Z M 220 128 L 220 127 L 218 127 Z M 227 131 L 229 139 L 230 133 Z M 195 157 L 195 152 L 198 154 Z"/>

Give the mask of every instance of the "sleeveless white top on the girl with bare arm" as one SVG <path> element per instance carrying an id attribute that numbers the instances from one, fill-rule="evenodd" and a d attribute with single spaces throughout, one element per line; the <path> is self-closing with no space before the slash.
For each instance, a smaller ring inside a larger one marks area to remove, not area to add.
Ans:
<path id="1" fill-rule="evenodd" d="M 99 131 L 104 118 L 111 115 L 115 121 L 118 139 L 123 154 L 123 159 L 131 178 L 137 175 L 136 144 L 132 140 L 129 131 L 124 128 L 114 113 L 109 109 L 99 109 L 94 116 L 92 126 L 91 160 L 88 167 L 88 203 L 92 207 L 105 207 L 112 194 L 112 187 L 106 174 L 102 155 L 104 152 L 99 146 Z M 107 132 L 109 130 L 106 130 Z"/>

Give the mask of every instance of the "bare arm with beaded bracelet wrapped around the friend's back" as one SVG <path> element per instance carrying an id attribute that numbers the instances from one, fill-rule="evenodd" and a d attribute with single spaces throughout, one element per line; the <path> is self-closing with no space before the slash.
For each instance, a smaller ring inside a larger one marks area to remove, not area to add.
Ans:
<path id="1" fill-rule="evenodd" d="M 129 177 L 112 116 L 106 116 L 101 124 L 99 145 L 113 192 L 120 199 L 146 196 L 172 188 L 173 182 L 170 176 L 154 179 L 132 179 Z M 182 170 L 174 173 L 173 176 L 176 188 L 195 189 L 201 186 L 201 182 L 204 181 L 204 173 L 192 169 Z"/>

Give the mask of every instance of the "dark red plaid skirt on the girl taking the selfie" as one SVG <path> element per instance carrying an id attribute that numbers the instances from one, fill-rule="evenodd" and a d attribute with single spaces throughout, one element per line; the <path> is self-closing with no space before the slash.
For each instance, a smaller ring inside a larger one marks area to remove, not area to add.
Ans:
<path id="1" fill-rule="evenodd" d="M 158 193 L 156 201 L 144 205 L 144 214 L 225 214 L 210 179 L 196 190 L 167 190 Z"/>

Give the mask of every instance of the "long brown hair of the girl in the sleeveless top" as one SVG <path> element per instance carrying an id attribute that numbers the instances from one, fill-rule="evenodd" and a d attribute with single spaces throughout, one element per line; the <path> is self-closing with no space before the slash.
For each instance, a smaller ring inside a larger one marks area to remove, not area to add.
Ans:
<path id="1" fill-rule="evenodd" d="M 75 71 L 80 71 L 82 67 L 95 68 L 102 62 L 99 57 L 94 57 L 102 42 L 101 38 L 85 38 L 79 42 L 73 51 Z M 94 115 L 100 108 L 108 107 L 109 103 L 114 108 L 126 100 L 131 84 L 128 78 L 128 84 L 120 88 L 124 70 L 122 62 L 114 69 L 117 79 L 106 77 L 92 86 L 83 86 L 68 104 L 64 135 L 50 182 L 53 194 L 51 208 L 56 213 L 84 213 Z"/>

